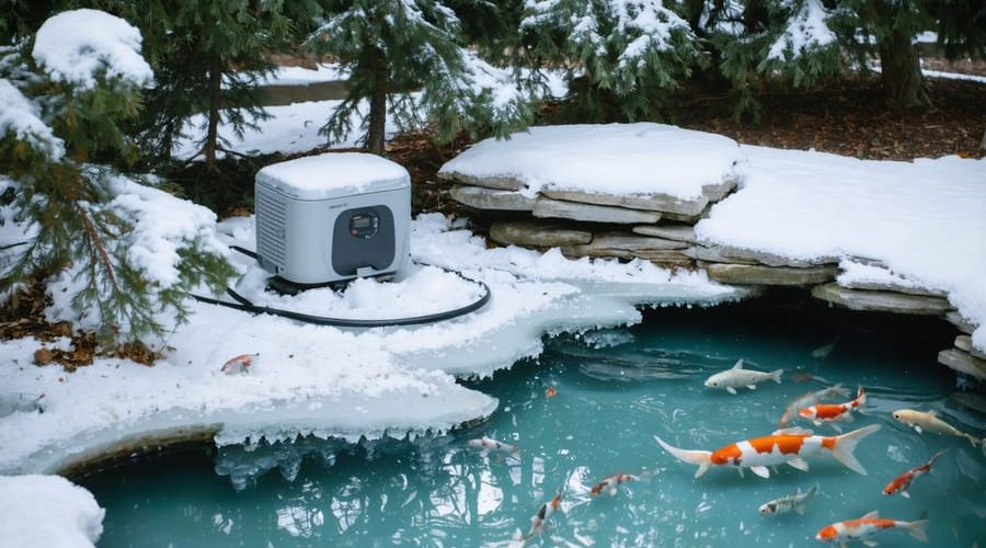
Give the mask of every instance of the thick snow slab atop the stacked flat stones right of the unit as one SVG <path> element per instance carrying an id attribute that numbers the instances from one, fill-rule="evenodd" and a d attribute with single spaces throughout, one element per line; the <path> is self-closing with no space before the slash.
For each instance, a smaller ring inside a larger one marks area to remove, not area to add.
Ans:
<path id="1" fill-rule="evenodd" d="M 702 186 L 740 176 L 743 153 L 721 135 L 652 123 L 531 127 L 485 139 L 439 173 L 513 178 L 541 189 L 606 194 L 702 195 Z"/>

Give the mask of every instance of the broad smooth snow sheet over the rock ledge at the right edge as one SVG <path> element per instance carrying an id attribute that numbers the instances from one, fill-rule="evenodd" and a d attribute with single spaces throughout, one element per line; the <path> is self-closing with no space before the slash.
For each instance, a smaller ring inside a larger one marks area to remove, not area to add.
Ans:
<path id="1" fill-rule="evenodd" d="M 699 221 L 699 238 L 796 260 L 881 261 L 920 287 L 948 292 L 979 326 L 974 344 L 986 349 L 986 160 L 743 149 L 745 186 Z"/>

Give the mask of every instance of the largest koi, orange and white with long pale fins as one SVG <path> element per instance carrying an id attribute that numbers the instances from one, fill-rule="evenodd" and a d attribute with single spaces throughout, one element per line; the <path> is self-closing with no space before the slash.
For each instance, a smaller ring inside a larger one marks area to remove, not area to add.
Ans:
<path id="1" fill-rule="evenodd" d="M 818 455 L 822 449 L 828 449 L 833 457 L 842 463 L 847 468 L 863 476 L 865 468 L 856 459 L 856 445 L 880 430 L 879 424 L 855 430 L 839 436 L 816 436 L 804 429 L 779 430 L 769 436 L 755 437 L 744 442 L 736 442 L 719 449 L 712 450 L 685 450 L 673 447 L 657 436 L 654 439 L 683 463 L 698 465 L 695 472 L 698 478 L 706 473 L 711 466 L 733 466 L 743 475 L 744 468 L 761 478 L 769 478 L 768 466 L 787 464 L 802 471 L 809 470 L 804 457 Z"/>

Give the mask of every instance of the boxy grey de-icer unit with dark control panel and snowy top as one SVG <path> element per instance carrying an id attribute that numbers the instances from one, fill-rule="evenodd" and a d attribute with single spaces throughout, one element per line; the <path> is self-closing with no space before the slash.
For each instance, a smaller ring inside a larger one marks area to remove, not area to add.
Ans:
<path id="1" fill-rule="evenodd" d="M 409 261 L 411 178 L 390 160 L 339 152 L 274 163 L 254 190 L 260 264 L 288 282 L 390 274 Z"/>

